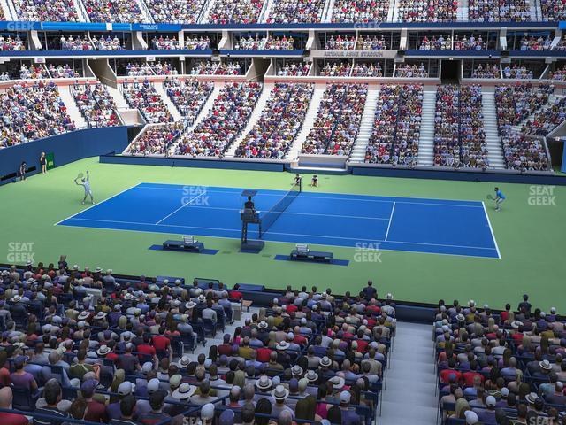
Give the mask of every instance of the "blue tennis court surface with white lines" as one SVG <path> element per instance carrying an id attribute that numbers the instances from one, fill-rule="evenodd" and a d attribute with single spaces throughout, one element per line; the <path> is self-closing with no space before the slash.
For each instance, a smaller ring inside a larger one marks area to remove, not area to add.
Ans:
<path id="1" fill-rule="evenodd" d="M 57 225 L 239 239 L 242 190 L 140 183 Z M 286 193 L 257 189 L 256 209 L 268 211 Z M 263 239 L 501 259 L 478 201 L 303 191 Z"/>

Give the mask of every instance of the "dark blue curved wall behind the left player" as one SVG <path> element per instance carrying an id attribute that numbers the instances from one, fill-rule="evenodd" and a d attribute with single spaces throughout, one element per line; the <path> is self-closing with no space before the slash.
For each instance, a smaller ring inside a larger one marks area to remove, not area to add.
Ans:
<path id="1" fill-rule="evenodd" d="M 63 166 L 82 158 L 124 151 L 128 144 L 127 127 L 85 128 L 55 135 L 34 142 L 21 143 L 0 150 L 0 177 L 16 172 L 22 161 L 36 167 L 30 174 L 40 172 L 42 152 L 53 153 L 55 166 Z M 0 184 L 11 182 L 4 180 Z"/>

